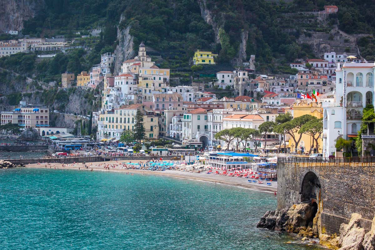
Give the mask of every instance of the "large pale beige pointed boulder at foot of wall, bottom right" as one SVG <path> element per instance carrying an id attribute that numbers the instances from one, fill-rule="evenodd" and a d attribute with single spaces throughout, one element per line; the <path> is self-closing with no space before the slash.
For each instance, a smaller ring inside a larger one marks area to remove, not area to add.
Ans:
<path id="1" fill-rule="evenodd" d="M 361 228 L 360 214 L 354 213 L 348 224 L 342 223 L 340 226 L 340 240 L 342 246 L 340 250 L 346 249 L 362 249 L 362 241 L 365 238 L 365 229 Z"/>

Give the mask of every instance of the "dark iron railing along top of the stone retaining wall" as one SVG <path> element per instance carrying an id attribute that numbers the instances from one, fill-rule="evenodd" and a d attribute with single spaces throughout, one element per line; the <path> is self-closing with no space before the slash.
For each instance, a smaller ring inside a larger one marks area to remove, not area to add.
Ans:
<path id="1" fill-rule="evenodd" d="M 278 157 L 278 162 L 282 163 L 375 163 L 375 156 L 367 157 Z"/>

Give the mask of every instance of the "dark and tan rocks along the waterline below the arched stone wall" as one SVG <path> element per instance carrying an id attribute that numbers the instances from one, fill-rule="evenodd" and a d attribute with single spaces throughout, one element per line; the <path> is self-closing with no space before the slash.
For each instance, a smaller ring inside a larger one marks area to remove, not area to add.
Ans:
<path id="1" fill-rule="evenodd" d="M 334 250 L 375 250 L 375 217 L 371 230 L 361 226 L 362 216 L 354 213 L 348 224 L 340 226 L 340 236 L 322 233 L 321 215 L 310 204 L 293 205 L 283 210 L 267 211 L 257 228 L 298 234 L 303 241 L 319 238 L 320 244 Z"/>

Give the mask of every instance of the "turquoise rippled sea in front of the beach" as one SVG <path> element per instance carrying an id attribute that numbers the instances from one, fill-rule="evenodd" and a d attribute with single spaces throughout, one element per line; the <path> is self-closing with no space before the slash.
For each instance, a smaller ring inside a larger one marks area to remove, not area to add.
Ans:
<path id="1" fill-rule="evenodd" d="M 273 193 L 153 175 L 0 170 L 1 250 L 306 250 L 256 225 Z"/>

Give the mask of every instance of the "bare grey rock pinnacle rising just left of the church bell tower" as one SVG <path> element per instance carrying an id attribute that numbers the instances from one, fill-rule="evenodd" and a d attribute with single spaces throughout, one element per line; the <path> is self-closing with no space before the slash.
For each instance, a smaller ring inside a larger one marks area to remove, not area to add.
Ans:
<path id="1" fill-rule="evenodd" d="M 124 21 L 124 15 L 121 15 L 120 23 Z M 131 59 L 135 56 L 133 36 L 129 34 L 131 26 L 127 26 L 125 29 L 117 28 L 117 40 L 118 45 L 115 49 L 116 60 L 114 67 L 114 75 L 118 75 L 121 69 L 123 61 Z"/>

